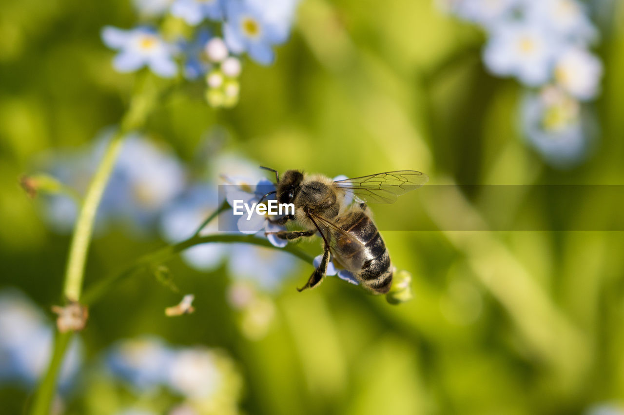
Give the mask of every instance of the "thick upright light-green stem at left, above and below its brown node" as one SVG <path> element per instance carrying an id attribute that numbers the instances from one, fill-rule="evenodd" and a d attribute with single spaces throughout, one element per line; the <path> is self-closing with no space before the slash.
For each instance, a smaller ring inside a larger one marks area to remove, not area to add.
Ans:
<path id="1" fill-rule="evenodd" d="M 150 110 L 158 102 L 157 98 L 158 88 L 154 83 L 154 79 L 150 77 L 149 72 L 142 72 L 137 79 L 130 106 L 122 118 L 119 130 L 110 140 L 104 157 L 89 184 L 84 202 L 80 207 L 69 247 L 63 286 L 63 295 L 69 301 L 80 300 L 85 262 L 93 232 L 95 213 L 109 182 L 110 174 L 115 167 L 115 161 L 119 156 L 124 137 L 130 131 L 144 124 Z M 54 393 L 56 393 L 56 378 L 71 336 L 72 333 L 57 333 L 52 359 L 34 397 L 31 409 L 31 414 L 33 415 L 49 415 L 50 413 L 52 398 L 54 398 Z"/>

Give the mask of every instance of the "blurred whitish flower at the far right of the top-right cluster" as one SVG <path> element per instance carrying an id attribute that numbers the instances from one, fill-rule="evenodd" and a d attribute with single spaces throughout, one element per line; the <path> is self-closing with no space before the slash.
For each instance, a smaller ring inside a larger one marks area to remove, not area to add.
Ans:
<path id="1" fill-rule="evenodd" d="M 555 81 L 580 100 L 590 100 L 598 94 L 602 63 L 581 47 L 568 47 L 557 59 Z"/>

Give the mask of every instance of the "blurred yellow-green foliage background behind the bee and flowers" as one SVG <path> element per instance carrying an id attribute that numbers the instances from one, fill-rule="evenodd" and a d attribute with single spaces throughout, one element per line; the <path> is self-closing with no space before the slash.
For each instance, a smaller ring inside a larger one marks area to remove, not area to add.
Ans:
<path id="1" fill-rule="evenodd" d="M 595 153 L 571 170 L 548 167 L 519 137 L 520 88 L 484 71 L 482 34 L 424 0 L 305 0 L 276 64 L 246 62 L 238 106 L 210 109 L 203 90 L 188 87 L 162 102 L 145 130 L 188 162 L 218 125 L 228 132 L 226 149 L 278 170 L 333 177 L 413 168 L 434 184 L 622 183 L 618 6 L 599 51 L 602 134 Z M 0 285 L 20 288 L 44 310 L 61 301 L 69 237 L 47 230 L 18 178 L 42 154 L 79 148 L 119 121 L 133 76 L 114 72 L 99 31 L 134 19 L 125 0 L 2 3 Z M 587 192 L 578 194 L 580 215 L 598 223 L 621 215 L 621 203 L 596 203 Z M 532 210 L 544 200 L 520 190 L 486 202 L 552 220 Z M 447 229 L 440 212 L 478 218 L 482 208 L 479 195 L 454 192 L 407 198 L 387 211 Z M 563 220 L 573 227 L 581 219 Z M 173 280 L 195 293 L 197 311 L 167 318 L 163 308 L 179 295 L 149 275 L 126 281 L 90 310 L 80 334 L 85 361 L 145 333 L 223 349 L 238 364 L 240 406 L 250 414 L 574 414 L 624 399 L 622 232 L 442 230 L 384 239 L 395 265 L 413 275 L 409 303 L 391 306 L 334 278 L 297 293 L 311 271 L 301 263 L 271 296 L 270 330 L 251 340 L 228 306 L 225 268 L 201 273 L 175 258 Z M 162 245 L 122 229 L 98 235 L 85 285 Z M 319 251 L 317 243 L 302 248 Z M 68 411 L 85 413 L 89 393 L 75 393 Z M 28 396 L 0 389 L 7 413 Z"/>

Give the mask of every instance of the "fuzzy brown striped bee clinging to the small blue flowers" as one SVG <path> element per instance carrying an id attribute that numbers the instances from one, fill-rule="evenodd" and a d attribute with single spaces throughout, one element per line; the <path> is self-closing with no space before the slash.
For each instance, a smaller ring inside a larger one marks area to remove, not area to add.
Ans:
<path id="1" fill-rule="evenodd" d="M 364 288 L 375 294 L 390 290 L 394 268 L 366 202 L 394 203 L 399 195 L 424 185 L 429 180 L 426 174 L 399 170 L 334 181 L 324 175 L 286 170 L 280 180 L 277 170 L 261 168 L 275 172 L 278 203 L 295 205 L 294 214 L 271 222 L 285 225 L 292 221 L 305 229 L 266 234 L 295 241 L 318 232 L 323 238 L 323 259 L 298 291 L 314 288 L 323 280 L 330 253 Z"/>

